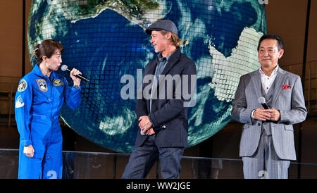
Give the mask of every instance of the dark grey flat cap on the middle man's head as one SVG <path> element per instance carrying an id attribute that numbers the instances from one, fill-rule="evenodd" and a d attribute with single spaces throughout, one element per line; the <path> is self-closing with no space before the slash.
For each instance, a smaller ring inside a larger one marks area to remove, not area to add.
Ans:
<path id="1" fill-rule="evenodd" d="M 172 32 L 175 35 L 178 35 L 178 27 L 176 27 L 175 23 L 171 20 L 158 20 L 156 23 L 152 23 L 145 32 L 147 35 L 151 35 L 152 31 L 166 30 L 168 32 Z"/>

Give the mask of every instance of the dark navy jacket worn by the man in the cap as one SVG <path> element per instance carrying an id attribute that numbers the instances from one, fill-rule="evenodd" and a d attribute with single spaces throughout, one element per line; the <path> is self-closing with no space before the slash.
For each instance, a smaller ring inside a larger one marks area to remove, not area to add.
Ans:
<path id="1" fill-rule="evenodd" d="M 150 61 L 145 66 L 144 77 L 147 75 L 153 75 L 154 77 L 157 64 L 158 61 L 156 59 Z M 135 108 L 137 120 L 140 116 L 149 116 L 154 130 L 156 130 L 156 145 L 158 147 L 187 147 L 188 123 L 187 105 L 185 103 L 190 101 L 188 94 L 192 95 L 196 91 L 196 65 L 194 61 L 182 54 L 180 49 L 176 49 L 168 59 L 168 63 L 161 75 L 175 78 L 173 87 L 170 87 L 172 84 L 166 83 L 167 81 L 159 80 L 159 84 L 156 87 L 157 99 L 152 99 L 151 113 L 149 97 L 144 95 L 142 99 L 137 99 Z M 184 75 L 187 75 L 187 78 Z M 163 82 L 165 87 L 162 87 Z M 185 91 L 184 87 L 187 87 Z M 149 90 L 149 94 L 151 94 L 151 89 L 149 89 L 151 88 L 151 81 L 143 81 L 142 92 L 144 88 Z M 168 93 L 168 91 L 171 92 Z M 168 97 L 168 94 L 173 97 Z M 137 132 L 135 145 L 141 146 L 147 137 L 147 135 L 141 135 Z"/>

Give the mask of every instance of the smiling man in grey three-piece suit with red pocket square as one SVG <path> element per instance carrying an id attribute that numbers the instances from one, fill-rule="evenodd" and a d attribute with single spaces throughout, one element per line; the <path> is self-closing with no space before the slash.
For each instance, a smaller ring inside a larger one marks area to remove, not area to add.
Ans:
<path id="1" fill-rule="evenodd" d="M 290 160 L 296 160 L 292 124 L 304 121 L 307 110 L 300 77 L 278 66 L 283 53 L 278 35 L 263 35 L 258 46 L 261 67 L 243 75 L 235 93 L 231 116 L 244 123 L 244 178 L 288 178 Z"/>

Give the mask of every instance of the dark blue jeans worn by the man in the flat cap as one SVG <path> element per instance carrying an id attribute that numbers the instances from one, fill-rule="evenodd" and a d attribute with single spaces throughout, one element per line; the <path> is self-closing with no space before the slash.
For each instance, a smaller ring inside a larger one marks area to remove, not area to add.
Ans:
<path id="1" fill-rule="evenodd" d="M 184 149 L 184 147 L 156 147 L 155 135 L 151 135 L 141 147 L 133 149 L 122 178 L 142 179 L 147 177 L 157 158 L 159 158 L 161 178 L 177 179 L 180 175 L 180 159 Z"/>

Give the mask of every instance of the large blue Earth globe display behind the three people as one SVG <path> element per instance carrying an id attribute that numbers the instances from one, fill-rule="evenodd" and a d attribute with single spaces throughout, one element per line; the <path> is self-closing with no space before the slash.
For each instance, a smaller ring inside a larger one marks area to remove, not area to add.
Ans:
<path id="1" fill-rule="evenodd" d="M 181 51 L 197 66 L 189 147 L 230 121 L 240 76 L 259 68 L 256 46 L 266 33 L 259 1 L 33 0 L 27 32 L 32 66 L 36 44 L 55 39 L 64 46 L 62 64 L 91 80 L 82 82 L 80 108 L 64 104 L 61 110 L 61 118 L 79 135 L 113 151 L 132 151 L 139 132 L 137 74 L 156 56 L 144 30 L 159 19 L 178 26 Z M 126 92 L 134 92 L 135 99 L 123 99 L 128 84 L 123 75 L 134 77 L 135 90 Z"/>

